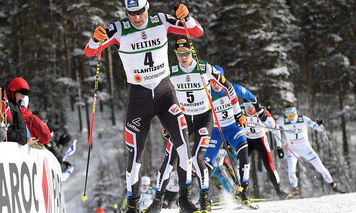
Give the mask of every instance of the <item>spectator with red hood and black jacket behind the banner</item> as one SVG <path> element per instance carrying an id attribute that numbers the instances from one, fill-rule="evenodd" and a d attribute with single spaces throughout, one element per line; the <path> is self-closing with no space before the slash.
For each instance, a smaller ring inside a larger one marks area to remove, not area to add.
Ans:
<path id="1" fill-rule="evenodd" d="M 14 78 L 6 89 L 6 93 L 11 112 L 11 117 L 7 117 L 7 122 L 10 123 L 7 131 L 8 141 L 17 142 L 20 145 L 32 145 L 36 143 L 38 139 L 26 136 L 26 124 L 20 110 L 20 103 L 24 96 L 31 93 L 26 80 L 23 78 Z"/>

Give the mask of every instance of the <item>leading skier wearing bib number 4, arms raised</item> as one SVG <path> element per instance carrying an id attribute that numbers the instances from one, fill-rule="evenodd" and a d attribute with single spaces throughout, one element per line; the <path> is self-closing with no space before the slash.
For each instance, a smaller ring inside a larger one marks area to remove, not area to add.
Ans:
<path id="1" fill-rule="evenodd" d="M 131 84 L 125 127 L 129 152 L 126 173 L 128 212 L 139 212 L 140 167 L 150 123 L 156 115 L 179 151 L 179 184 L 182 194 L 187 195 L 181 197 L 180 206 L 190 212 L 189 209 L 194 208 L 189 195 L 192 159 L 188 149 L 188 129 L 181 122 L 185 120 L 184 115 L 168 77 L 167 35 L 185 34 L 183 19 L 193 37 L 202 35 L 203 29 L 189 16 L 183 4 L 175 11 L 180 20 L 164 13 L 148 13 L 147 0 L 125 0 L 125 6 L 128 18 L 110 24 L 107 31 L 98 26 L 84 52 L 86 56 L 95 56 L 100 51 L 99 42 L 103 42 L 102 49 L 114 45 Z"/>

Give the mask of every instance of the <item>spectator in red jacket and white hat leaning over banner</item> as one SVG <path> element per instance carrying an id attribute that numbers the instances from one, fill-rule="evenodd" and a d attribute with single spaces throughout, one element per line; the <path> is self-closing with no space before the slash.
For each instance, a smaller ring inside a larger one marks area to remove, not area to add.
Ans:
<path id="1" fill-rule="evenodd" d="M 31 110 L 28 110 L 28 96 L 25 96 L 21 101 L 21 112 L 25 119 L 25 123 L 32 137 L 36 137 L 39 143 L 48 144 L 51 140 L 51 132 L 45 121 L 42 121 L 38 116 L 34 115 Z"/>

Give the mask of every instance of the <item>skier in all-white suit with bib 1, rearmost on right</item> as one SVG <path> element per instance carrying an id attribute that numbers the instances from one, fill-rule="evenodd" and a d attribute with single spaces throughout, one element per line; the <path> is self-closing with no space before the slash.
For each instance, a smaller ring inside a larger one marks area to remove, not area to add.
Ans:
<path id="1" fill-rule="evenodd" d="M 304 115 L 298 115 L 296 113 L 296 104 L 287 104 L 284 109 L 284 117 L 277 120 L 277 124 L 286 130 L 298 132 L 296 134 L 284 132 L 287 138 L 287 146 L 292 152 L 298 156 L 308 160 L 314 168 L 321 173 L 323 179 L 330 185 L 334 192 L 343 193 L 336 186 L 333 177 L 327 168 L 322 164 L 319 156 L 314 149 L 310 146 L 308 140 L 308 126 L 316 131 L 323 131 L 321 124 L 322 119 L 318 119 L 317 122 L 312 121 L 310 118 Z M 298 188 L 298 180 L 295 175 L 295 167 L 298 159 L 288 151 L 287 164 L 288 164 L 288 176 L 291 187 L 293 188 L 293 197 L 300 197 L 300 190 Z"/>

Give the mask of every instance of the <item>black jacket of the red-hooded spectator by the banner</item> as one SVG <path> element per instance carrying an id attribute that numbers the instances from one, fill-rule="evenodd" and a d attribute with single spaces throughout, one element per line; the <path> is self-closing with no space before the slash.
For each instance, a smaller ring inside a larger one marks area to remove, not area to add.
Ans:
<path id="1" fill-rule="evenodd" d="M 20 145 L 27 144 L 26 123 L 23 119 L 20 106 L 9 95 L 10 111 L 12 121 L 8 120 L 10 126 L 8 128 L 8 141 L 17 142 Z"/>

